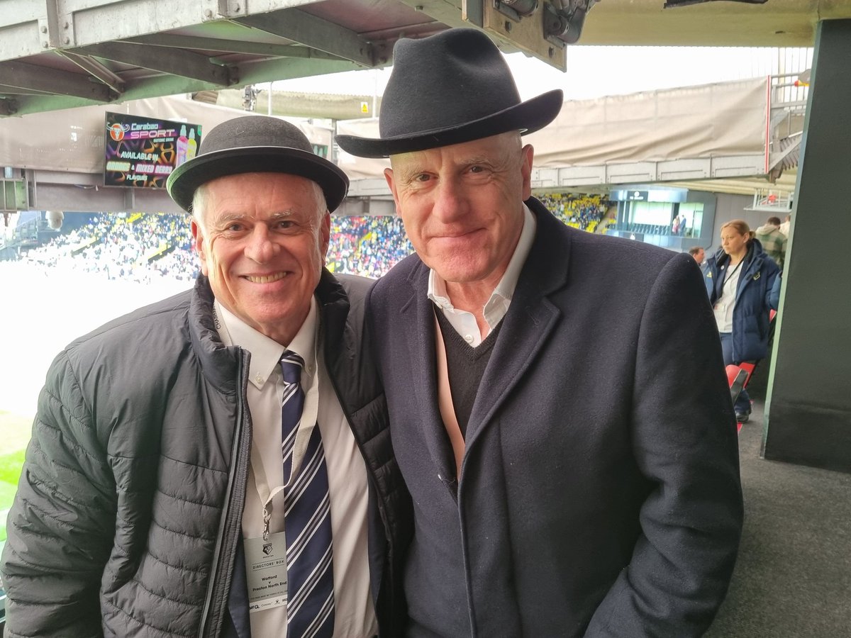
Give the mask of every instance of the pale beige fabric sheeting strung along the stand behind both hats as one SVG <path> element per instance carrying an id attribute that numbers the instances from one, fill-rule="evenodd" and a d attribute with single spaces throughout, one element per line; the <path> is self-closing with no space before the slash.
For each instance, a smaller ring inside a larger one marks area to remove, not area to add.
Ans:
<path id="1" fill-rule="evenodd" d="M 0 119 L 0 166 L 102 173 L 106 111 L 199 123 L 203 134 L 247 113 L 176 97 Z M 536 168 L 753 155 L 765 149 L 767 79 L 567 101 L 557 119 L 524 138 Z M 315 143 L 327 129 L 300 125 Z M 378 137 L 375 120 L 337 122 L 340 134 Z M 203 138 L 202 138 L 203 139 Z M 351 179 L 380 178 L 387 160 L 341 151 Z"/>

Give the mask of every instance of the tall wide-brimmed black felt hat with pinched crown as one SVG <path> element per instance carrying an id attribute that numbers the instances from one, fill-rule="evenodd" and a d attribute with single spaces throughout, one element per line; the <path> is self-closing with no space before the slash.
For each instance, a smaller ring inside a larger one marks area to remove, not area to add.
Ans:
<path id="1" fill-rule="evenodd" d="M 358 157 L 388 157 L 518 130 L 532 133 L 562 108 L 560 89 L 522 102 L 511 69 L 477 29 L 448 29 L 393 48 L 379 139 L 337 135 Z"/>

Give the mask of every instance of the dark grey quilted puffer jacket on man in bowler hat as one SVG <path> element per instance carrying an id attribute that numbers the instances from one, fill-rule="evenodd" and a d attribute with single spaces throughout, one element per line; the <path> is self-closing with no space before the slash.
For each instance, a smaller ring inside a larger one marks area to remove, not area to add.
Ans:
<path id="1" fill-rule="evenodd" d="M 367 464 L 373 595 L 392 636 L 410 500 L 361 339 L 368 285 L 324 272 L 317 299 L 328 371 Z M 251 428 L 248 353 L 220 342 L 212 302 L 201 277 L 55 358 L 0 564 L 9 638 L 221 635 Z"/>

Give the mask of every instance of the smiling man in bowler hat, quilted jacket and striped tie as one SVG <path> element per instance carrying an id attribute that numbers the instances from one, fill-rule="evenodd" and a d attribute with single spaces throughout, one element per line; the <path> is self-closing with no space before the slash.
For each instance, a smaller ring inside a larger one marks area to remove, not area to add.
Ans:
<path id="1" fill-rule="evenodd" d="M 169 176 L 203 275 L 50 368 L 7 635 L 401 633 L 410 504 L 360 339 L 368 280 L 323 268 L 347 186 L 272 117 L 220 124 Z"/>

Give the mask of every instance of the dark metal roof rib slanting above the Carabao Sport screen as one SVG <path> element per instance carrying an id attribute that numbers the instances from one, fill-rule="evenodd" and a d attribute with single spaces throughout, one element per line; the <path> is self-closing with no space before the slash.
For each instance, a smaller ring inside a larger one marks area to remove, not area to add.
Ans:
<path id="1" fill-rule="evenodd" d="M 219 86 L 230 86 L 235 83 L 226 66 L 215 65 L 209 61 L 208 57 L 181 48 L 150 48 L 140 44 L 111 42 L 75 48 L 74 52 L 94 55 L 126 65 L 141 66 L 151 71 L 191 77 Z"/>

